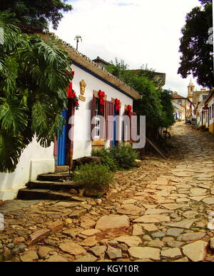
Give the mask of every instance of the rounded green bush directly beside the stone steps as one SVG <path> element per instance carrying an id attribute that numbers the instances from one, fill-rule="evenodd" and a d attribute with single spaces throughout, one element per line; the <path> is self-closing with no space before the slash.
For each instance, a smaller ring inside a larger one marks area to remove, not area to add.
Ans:
<path id="1" fill-rule="evenodd" d="M 103 190 L 113 182 L 113 173 L 106 165 L 85 164 L 76 168 L 73 180 L 87 188 Z"/>

